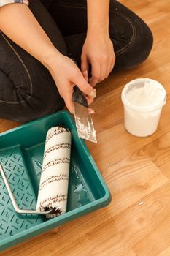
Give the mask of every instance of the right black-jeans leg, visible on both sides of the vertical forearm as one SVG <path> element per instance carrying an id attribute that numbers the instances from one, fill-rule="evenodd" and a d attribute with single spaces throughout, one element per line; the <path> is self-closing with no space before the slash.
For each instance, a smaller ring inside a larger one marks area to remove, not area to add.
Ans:
<path id="1" fill-rule="evenodd" d="M 49 12 L 65 37 L 69 56 L 80 65 L 87 31 L 86 0 L 53 0 Z M 109 5 L 109 36 L 115 48 L 115 71 L 140 64 L 152 48 L 152 33 L 147 24 L 115 0 Z"/>

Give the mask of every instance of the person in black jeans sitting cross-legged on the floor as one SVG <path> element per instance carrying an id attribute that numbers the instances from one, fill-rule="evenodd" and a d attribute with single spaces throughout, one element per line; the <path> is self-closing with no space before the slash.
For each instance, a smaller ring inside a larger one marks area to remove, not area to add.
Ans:
<path id="1" fill-rule="evenodd" d="M 73 113 L 75 84 L 90 104 L 97 83 L 152 48 L 148 26 L 115 0 L 0 0 L 0 20 L 0 118 L 19 122 L 64 102 Z"/>

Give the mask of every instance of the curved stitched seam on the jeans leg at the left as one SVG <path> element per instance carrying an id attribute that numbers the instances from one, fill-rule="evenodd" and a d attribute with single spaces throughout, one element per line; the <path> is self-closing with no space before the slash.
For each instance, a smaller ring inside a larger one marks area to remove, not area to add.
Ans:
<path id="1" fill-rule="evenodd" d="M 9 47 L 13 50 L 13 52 L 15 53 L 15 55 L 18 57 L 18 59 L 20 60 L 21 64 L 23 64 L 23 67 L 24 69 L 26 70 L 26 73 L 28 75 L 28 79 L 29 79 L 29 82 L 30 82 L 30 85 L 31 85 L 31 95 L 29 95 L 26 99 L 20 101 L 20 102 L 6 102 L 6 101 L 3 101 L 3 100 L 0 100 L 0 102 L 4 102 L 4 103 L 8 103 L 8 104 L 20 104 L 20 103 L 23 103 L 23 102 L 26 102 L 26 100 L 28 100 L 31 96 L 32 96 L 32 91 L 33 91 L 33 84 L 32 84 L 32 81 L 31 81 L 31 75 L 30 73 L 28 72 L 28 69 L 26 67 L 26 64 L 23 63 L 23 60 L 20 58 L 19 54 L 16 52 L 16 50 L 12 47 L 12 45 L 10 44 L 9 40 L 4 36 L 4 34 L 0 31 L 0 34 L 1 36 L 4 38 L 4 40 L 7 42 L 7 44 L 9 45 Z"/>

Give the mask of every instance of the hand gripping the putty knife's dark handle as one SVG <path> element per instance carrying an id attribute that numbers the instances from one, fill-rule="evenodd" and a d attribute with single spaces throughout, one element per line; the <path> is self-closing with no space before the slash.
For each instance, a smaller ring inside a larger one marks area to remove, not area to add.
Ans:
<path id="1" fill-rule="evenodd" d="M 56 52 L 48 62 L 49 64 L 46 67 L 49 69 L 55 80 L 59 94 L 64 99 L 66 107 L 71 113 L 74 113 L 74 105 L 72 102 L 74 85 L 77 85 L 85 94 L 86 99 L 88 100 L 88 105 L 93 102 L 94 97 L 96 97 L 96 89 L 93 89 L 93 87 L 85 80 L 82 72 L 72 59 Z M 93 111 L 91 110 L 91 112 Z"/>

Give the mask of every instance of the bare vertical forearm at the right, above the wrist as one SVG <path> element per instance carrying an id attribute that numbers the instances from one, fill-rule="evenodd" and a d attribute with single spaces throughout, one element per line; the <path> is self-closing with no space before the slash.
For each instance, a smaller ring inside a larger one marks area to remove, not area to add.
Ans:
<path id="1" fill-rule="evenodd" d="M 109 32 L 109 0 L 88 0 L 88 34 Z"/>

